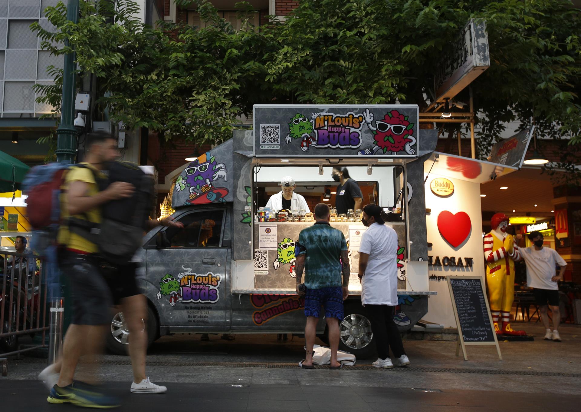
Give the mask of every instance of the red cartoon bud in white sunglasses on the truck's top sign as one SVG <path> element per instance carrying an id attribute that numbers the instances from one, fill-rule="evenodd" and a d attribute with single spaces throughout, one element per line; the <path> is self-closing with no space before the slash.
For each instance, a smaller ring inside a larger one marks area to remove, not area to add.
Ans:
<path id="1" fill-rule="evenodd" d="M 359 151 L 360 155 L 372 155 L 381 150 L 383 153 L 392 152 L 396 154 L 405 151 L 408 155 L 413 155 L 415 150 L 411 148 L 415 144 L 414 123 L 408 121 L 408 116 L 404 116 L 397 110 L 392 110 L 377 120 L 375 126 L 372 125 L 374 116 L 369 109 L 363 111 L 365 123 L 374 134 L 375 145 Z"/>

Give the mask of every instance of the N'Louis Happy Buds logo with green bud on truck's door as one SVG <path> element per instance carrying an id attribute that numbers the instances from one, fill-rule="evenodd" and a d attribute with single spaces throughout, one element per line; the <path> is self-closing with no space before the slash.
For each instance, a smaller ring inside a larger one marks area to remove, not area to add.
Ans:
<path id="1" fill-rule="evenodd" d="M 191 268 L 185 268 L 185 272 L 175 279 L 171 274 L 166 274 L 159 282 L 159 292 L 157 300 L 162 299 L 162 295 L 168 296 L 171 306 L 175 303 L 216 303 L 220 299 L 220 282 L 223 276 L 207 272 L 205 275 L 191 272 Z"/>

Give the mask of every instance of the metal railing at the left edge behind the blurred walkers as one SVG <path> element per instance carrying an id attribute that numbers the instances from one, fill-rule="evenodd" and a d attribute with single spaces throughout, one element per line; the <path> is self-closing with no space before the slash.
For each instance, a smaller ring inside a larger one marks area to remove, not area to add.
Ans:
<path id="1" fill-rule="evenodd" d="M 45 278 L 44 261 L 37 256 L 0 253 L 0 358 L 48 346 Z M 41 343 L 20 347 L 20 336 L 32 333 L 42 333 Z"/>

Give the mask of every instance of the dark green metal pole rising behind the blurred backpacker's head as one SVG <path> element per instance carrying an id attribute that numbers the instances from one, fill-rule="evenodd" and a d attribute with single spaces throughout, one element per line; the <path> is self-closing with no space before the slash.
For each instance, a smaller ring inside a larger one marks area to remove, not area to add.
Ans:
<path id="1" fill-rule="evenodd" d="M 67 3 L 67 20 L 78 22 L 79 0 Z M 67 44 L 68 45 L 68 44 Z M 75 73 L 74 52 L 64 55 L 63 67 L 63 100 L 61 104 L 60 125 L 56 129 L 56 161 L 74 162 L 77 155 L 77 129 L 74 122 Z"/>

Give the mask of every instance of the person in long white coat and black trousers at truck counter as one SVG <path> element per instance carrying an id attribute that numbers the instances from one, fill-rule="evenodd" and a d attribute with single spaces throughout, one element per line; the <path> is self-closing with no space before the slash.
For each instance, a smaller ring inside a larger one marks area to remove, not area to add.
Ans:
<path id="1" fill-rule="evenodd" d="M 393 314 L 397 306 L 397 233 L 385 225 L 381 208 L 368 204 L 363 208 L 361 222 L 367 230 L 361 236 L 359 246 L 359 279 L 361 280 L 361 304 L 367 310 L 371 331 L 379 355 L 372 365 L 376 368 L 393 368 L 409 365 L 403 349 Z M 393 352 L 393 363 L 389 358 Z"/>

